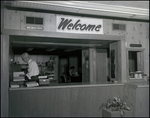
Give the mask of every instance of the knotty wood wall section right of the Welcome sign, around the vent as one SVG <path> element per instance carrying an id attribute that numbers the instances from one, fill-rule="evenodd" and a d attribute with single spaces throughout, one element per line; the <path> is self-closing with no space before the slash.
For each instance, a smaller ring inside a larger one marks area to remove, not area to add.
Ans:
<path id="1" fill-rule="evenodd" d="M 126 31 L 112 30 L 112 23 L 126 24 Z M 144 50 L 144 73 L 149 75 L 149 23 L 104 19 L 104 35 L 125 36 L 126 48 L 130 44 L 142 44 Z"/>

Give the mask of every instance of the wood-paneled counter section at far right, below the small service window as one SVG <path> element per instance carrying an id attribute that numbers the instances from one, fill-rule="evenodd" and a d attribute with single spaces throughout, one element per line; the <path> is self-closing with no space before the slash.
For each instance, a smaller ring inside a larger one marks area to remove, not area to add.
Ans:
<path id="1" fill-rule="evenodd" d="M 133 110 L 134 117 L 149 117 L 149 87 L 125 84 L 123 93 L 123 98 Z"/>

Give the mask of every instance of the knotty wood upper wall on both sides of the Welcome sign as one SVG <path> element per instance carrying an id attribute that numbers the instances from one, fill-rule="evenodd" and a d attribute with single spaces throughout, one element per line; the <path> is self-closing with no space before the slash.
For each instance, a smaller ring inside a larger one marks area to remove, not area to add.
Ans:
<path id="1" fill-rule="evenodd" d="M 44 17 L 44 30 L 56 32 L 56 17 L 55 14 L 24 12 L 16 10 L 4 10 L 4 29 L 25 30 L 24 16 Z M 20 22 L 21 21 L 21 22 Z M 112 23 L 126 24 L 126 31 L 112 30 Z M 125 36 L 126 48 L 130 44 L 142 44 L 144 50 L 144 73 L 149 75 L 149 23 L 133 22 L 122 20 L 103 19 L 104 35 L 121 35 Z"/>

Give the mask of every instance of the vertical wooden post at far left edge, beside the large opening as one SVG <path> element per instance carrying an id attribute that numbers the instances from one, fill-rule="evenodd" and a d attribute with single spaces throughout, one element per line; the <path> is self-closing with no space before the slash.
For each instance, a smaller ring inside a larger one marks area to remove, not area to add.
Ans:
<path id="1" fill-rule="evenodd" d="M 1 117 L 9 114 L 9 35 L 1 35 Z"/>

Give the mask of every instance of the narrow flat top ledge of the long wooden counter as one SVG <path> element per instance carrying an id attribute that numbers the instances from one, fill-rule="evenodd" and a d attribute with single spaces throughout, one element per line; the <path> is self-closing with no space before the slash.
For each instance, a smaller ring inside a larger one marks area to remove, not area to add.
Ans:
<path id="1" fill-rule="evenodd" d="M 76 83 L 52 83 L 49 86 L 37 86 L 37 87 L 19 87 L 9 88 L 9 90 L 31 90 L 31 89 L 48 89 L 48 88 L 72 88 L 72 87 L 93 87 L 93 86 L 120 86 L 124 83 L 95 83 L 95 82 L 76 82 Z"/>

